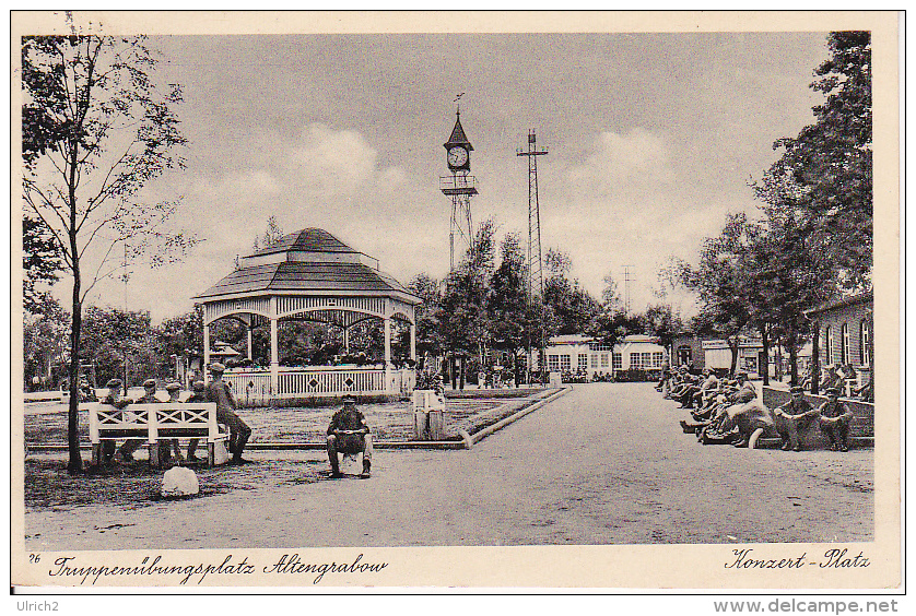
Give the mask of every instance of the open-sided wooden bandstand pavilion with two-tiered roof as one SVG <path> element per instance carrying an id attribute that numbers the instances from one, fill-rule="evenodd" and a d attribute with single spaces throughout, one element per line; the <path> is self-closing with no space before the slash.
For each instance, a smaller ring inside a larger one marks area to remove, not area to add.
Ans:
<path id="1" fill-rule="evenodd" d="M 239 268 L 193 298 L 203 306 L 203 364 L 210 366 L 210 325 L 236 319 L 246 325 L 248 358 L 251 330 L 270 328 L 270 369 L 234 368 L 223 379 L 236 396 L 290 399 L 395 394 L 413 389 L 413 368 L 391 362 L 391 319 L 410 324 L 410 358 L 416 360 L 414 308 L 421 303 L 378 261 L 350 248 L 326 230 L 307 228 L 239 260 Z M 285 320 L 329 323 L 343 330 L 366 319 L 385 329 L 384 364 L 378 366 L 281 367 L 278 325 Z"/>

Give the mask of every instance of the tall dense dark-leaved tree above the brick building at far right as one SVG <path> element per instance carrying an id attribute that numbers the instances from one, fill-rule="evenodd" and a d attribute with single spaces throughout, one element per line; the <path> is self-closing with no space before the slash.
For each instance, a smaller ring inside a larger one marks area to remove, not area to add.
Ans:
<path id="1" fill-rule="evenodd" d="M 870 285 L 872 266 L 871 35 L 834 32 L 831 57 L 811 87 L 826 99 L 813 108 L 817 121 L 784 147 L 755 185 L 768 209 L 794 210 L 812 254 L 838 288 Z"/>

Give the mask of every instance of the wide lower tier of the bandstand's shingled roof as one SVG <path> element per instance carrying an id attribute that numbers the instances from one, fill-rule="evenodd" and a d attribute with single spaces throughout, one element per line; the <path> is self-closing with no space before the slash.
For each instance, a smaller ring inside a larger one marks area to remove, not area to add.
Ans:
<path id="1" fill-rule="evenodd" d="M 198 295 L 196 299 L 256 292 L 339 292 L 344 295 L 388 292 L 414 297 L 394 277 L 362 263 L 283 261 L 236 270 Z M 416 304 L 419 303 L 418 299 Z"/>

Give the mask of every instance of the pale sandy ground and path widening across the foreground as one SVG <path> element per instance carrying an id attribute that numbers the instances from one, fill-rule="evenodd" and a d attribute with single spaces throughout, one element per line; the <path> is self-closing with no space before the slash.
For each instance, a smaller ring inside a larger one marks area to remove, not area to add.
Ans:
<path id="1" fill-rule="evenodd" d="M 650 383 L 588 383 L 470 451 L 379 450 L 367 481 L 273 481 L 320 452 L 251 452 L 246 489 L 25 516 L 26 549 L 857 542 L 873 452 L 698 445 Z M 294 477 L 293 477 L 294 479 Z"/>

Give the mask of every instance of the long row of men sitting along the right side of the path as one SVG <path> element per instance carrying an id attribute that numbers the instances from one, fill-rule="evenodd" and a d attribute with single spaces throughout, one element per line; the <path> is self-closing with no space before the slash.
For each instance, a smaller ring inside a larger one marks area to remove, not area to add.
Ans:
<path id="1" fill-rule="evenodd" d="M 819 426 L 827 436 L 831 449 L 849 450 L 849 425 L 853 413 L 839 401 L 839 390 L 827 388 L 827 401 L 814 408 L 805 399 L 801 387 L 791 388 L 791 399 L 786 404 L 768 410 L 758 400 L 756 389 L 744 371 L 736 379 L 719 379 L 709 370 L 692 375 L 676 368 L 670 375 L 670 398 L 682 408 L 689 408 L 692 420 L 681 420 L 685 433 L 697 435 L 704 445 L 730 443 L 748 447 L 758 430 L 761 435 L 778 435 L 782 449 L 801 451 L 799 435 Z M 663 383 L 656 388 L 661 391 Z"/>

